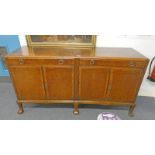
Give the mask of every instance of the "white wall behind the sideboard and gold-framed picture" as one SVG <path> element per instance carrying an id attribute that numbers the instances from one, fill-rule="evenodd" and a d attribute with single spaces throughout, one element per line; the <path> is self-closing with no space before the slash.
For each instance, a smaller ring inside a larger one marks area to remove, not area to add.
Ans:
<path id="1" fill-rule="evenodd" d="M 21 45 L 26 45 L 24 35 L 19 36 Z M 155 36 L 97 36 L 98 47 L 131 47 L 152 59 L 155 56 Z M 155 83 L 144 76 L 139 95 L 155 97 Z"/>

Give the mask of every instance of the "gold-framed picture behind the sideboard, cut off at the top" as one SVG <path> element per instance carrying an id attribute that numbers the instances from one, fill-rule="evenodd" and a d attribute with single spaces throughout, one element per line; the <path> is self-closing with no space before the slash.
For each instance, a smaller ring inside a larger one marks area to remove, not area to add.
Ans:
<path id="1" fill-rule="evenodd" d="M 96 46 L 95 35 L 26 35 L 28 46 Z"/>

